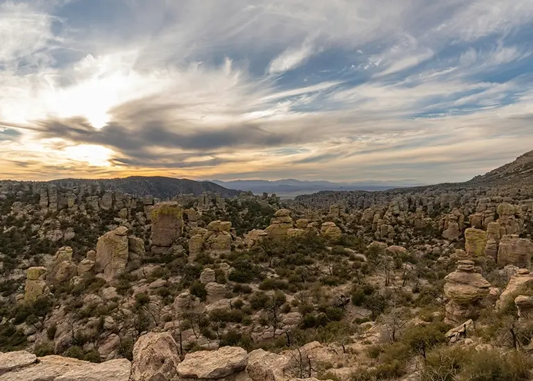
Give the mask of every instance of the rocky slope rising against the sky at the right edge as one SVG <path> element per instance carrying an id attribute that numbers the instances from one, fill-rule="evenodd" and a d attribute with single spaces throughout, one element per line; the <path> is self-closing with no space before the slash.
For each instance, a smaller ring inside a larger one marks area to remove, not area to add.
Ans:
<path id="1" fill-rule="evenodd" d="M 521 185 L 533 183 L 533 151 L 524 153 L 509 164 L 482 176 L 475 176 L 468 185 Z"/>

